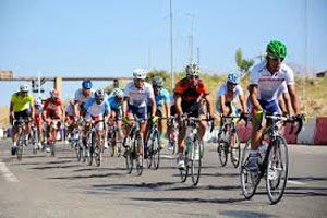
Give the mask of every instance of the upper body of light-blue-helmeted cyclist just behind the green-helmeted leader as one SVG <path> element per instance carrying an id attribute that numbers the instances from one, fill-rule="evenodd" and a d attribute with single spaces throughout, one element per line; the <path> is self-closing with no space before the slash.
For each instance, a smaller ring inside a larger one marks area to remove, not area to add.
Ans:
<path id="1" fill-rule="evenodd" d="M 245 97 L 242 87 L 239 85 L 240 74 L 230 72 L 227 83 L 221 84 L 217 92 L 216 109 L 225 116 L 237 114 L 235 100 L 239 98 L 242 113 L 246 114 Z"/>

